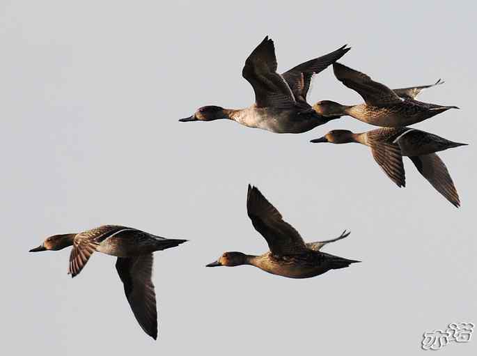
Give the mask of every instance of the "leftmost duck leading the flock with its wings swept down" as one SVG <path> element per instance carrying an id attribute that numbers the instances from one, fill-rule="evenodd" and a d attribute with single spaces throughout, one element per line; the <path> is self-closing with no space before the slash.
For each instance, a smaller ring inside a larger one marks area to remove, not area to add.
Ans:
<path id="1" fill-rule="evenodd" d="M 187 240 L 161 238 L 126 226 L 104 225 L 82 233 L 53 235 L 30 252 L 57 251 L 72 246 L 68 273 L 77 276 L 93 252 L 117 256 L 116 270 L 124 284 L 127 302 L 146 334 L 157 339 L 157 308 L 153 252 L 178 246 Z"/>

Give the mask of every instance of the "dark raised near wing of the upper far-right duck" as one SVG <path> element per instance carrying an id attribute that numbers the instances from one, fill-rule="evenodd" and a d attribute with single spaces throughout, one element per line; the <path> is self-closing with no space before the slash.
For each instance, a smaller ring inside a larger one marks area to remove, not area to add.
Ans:
<path id="1" fill-rule="evenodd" d="M 333 70 L 336 79 L 359 93 L 367 105 L 386 107 L 399 104 L 403 100 L 384 84 L 375 82 L 368 75 L 346 65 L 333 63 Z"/>

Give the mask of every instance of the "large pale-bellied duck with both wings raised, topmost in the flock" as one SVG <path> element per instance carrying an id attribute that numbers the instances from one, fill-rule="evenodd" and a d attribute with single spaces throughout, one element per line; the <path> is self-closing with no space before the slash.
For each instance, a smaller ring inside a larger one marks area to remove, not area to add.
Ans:
<path id="1" fill-rule="evenodd" d="M 323 125 L 332 118 L 318 115 L 306 102 L 311 78 L 340 59 L 350 48 L 311 59 L 279 74 L 274 43 L 265 37 L 245 61 L 242 76 L 253 87 L 255 103 L 244 109 L 224 109 L 208 105 L 196 110 L 194 115 L 180 121 L 214 121 L 230 119 L 248 127 L 277 133 L 300 133 Z"/>

